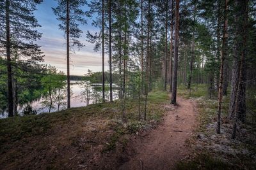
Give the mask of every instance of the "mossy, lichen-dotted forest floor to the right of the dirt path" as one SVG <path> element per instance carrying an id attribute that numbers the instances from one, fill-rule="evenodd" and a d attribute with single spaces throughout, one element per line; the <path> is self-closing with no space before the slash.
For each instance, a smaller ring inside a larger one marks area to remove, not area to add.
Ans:
<path id="1" fill-rule="evenodd" d="M 209 97 L 206 85 L 189 90 L 179 89 L 178 96 L 195 101 L 198 110 L 196 128 L 188 145 L 193 150 L 189 159 L 180 161 L 177 169 L 256 169 L 256 89 L 246 94 L 246 122 L 237 127 L 231 138 L 233 122 L 228 118 L 229 97 L 223 97 L 221 132 L 216 134 L 217 92 Z M 229 95 L 229 91 L 228 91 Z"/>

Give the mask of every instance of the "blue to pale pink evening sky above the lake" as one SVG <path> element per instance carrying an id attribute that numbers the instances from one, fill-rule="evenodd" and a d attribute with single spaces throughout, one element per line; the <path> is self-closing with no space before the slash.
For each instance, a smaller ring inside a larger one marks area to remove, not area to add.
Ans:
<path id="1" fill-rule="evenodd" d="M 44 0 L 42 4 L 37 6 L 35 17 L 42 27 L 38 27 L 38 32 L 42 33 L 42 38 L 36 43 L 44 52 L 44 64 L 55 66 L 58 70 L 67 73 L 67 52 L 64 32 L 59 29 L 60 22 L 56 20 L 56 15 L 52 11 L 52 7 L 56 7 L 54 0 Z M 84 7 L 86 10 L 86 7 Z M 95 32 L 97 29 L 91 25 L 90 18 L 87 18 L 87 25 L 81 25 L 83 35 L 81 42 L 85 45 L 81 50 L 76 50 L 70 54 L 70 74 L 84 75 L 88 69 L 93 72 L 102 70 L 101 52 L 93 51 L 93 44 L 88 43 L 85 39 L 85 32 Z M 105 60 L 105 70 L 108 70 L 108 59 Z"/>

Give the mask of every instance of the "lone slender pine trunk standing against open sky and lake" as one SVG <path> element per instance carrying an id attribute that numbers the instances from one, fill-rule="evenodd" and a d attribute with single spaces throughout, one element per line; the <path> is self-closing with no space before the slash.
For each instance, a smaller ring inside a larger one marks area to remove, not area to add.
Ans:
<path id="1" fill-rule="evenodd" d="M 67 0 L 67 107 L 70 108 L 70 72 L 69 72 L 69 0 Z"/>

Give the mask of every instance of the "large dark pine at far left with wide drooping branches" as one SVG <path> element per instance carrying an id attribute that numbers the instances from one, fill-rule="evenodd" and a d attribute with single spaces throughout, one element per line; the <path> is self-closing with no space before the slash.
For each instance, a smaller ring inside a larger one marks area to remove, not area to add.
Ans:
<path id="1" fill-rule="evenodd" d="M 19 53 L 20 59 L 26 60 L 29 64 L 38 60 L 43 60 L 40 46 L 33 43 L 41 38 L 41 34 L 35 30 L 40 27 L 33 11 L 36 10 L 36 4 L 42 1 L 18 1 L 6 0 L 0 2 L 1 18 L 1 40 L 0 44 L 5 50 L 7 60 L 8 75 L 8 117 L 13 117 L 15 110 L 13 97 L 13 57 L 14 52 Z M 1 54 L 4 51 L 1 50 Z"/>

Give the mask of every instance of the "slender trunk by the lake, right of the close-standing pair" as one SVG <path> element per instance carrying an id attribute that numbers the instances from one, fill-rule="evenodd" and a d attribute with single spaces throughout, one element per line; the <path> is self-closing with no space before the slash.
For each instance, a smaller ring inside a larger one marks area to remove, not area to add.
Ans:
<path id="1" fill-rule="evenodd" d="M 113 90 L 112 90 L 112 35 L 111 35 L 111 0 L 109 0 L 108 8 L 109 17 L 109 90 L 110 101 L 113 102 Z"/>

